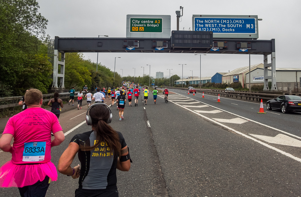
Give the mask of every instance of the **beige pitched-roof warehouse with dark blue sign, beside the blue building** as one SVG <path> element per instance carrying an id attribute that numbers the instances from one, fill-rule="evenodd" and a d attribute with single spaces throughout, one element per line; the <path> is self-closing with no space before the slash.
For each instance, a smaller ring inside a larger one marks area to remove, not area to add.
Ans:
<path id="1" fill-rule="evenodd" d="M 250 70 L 253 71 L 256 68 L 263 68 L 263 64 L 251 65 Z M 249 66 L 236 68 L 234 71 L 231 71 L 222 76 L 222 83 L 241 83 L 243 88 L 246 87 L 246 73 L 249 72 Z M 249 81 L 248 81 L 249 82 Z"/>

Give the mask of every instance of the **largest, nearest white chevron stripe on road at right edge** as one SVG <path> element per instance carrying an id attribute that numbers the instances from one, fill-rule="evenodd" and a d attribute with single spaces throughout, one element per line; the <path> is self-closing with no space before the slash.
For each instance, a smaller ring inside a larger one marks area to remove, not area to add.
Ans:
<path id="1" fill-rule="evenodd" d="M 265 136 L 265 135 L 254 135 L 254 134 L 249 134 L 249 135 L 252 135 L 255 138 L 259 138 L 263 141 L 266 141 L 266 142 L 272 143 L 272 144 L 281 144 L 281 145 L 286 145 L 286 146 L 301 147 L 300 140 L 291 138 L 291 137 L 289 137 L 287 135 L 283 135 L 281 133 L 279 133 L 275 137 Z"/>

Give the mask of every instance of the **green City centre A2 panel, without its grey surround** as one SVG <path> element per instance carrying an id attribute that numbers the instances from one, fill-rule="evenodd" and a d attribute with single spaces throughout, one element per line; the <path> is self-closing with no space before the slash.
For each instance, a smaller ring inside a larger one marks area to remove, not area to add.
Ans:
<path id="1" fill-rule="evenodd" d="M 162 33 L 162 18 L 130 18 L 130 32 Z"/>

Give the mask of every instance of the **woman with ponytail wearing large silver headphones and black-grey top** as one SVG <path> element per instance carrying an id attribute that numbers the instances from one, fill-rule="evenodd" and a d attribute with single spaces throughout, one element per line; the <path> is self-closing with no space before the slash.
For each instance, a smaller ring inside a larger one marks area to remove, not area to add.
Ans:
<path id="1" fill-rule="evenodd" d="M 59 160 L 60 173 L 79 178 L 75 196 L 118 197 L 116 168 L 129 171 L 132 160 L 123 135 L 108 125 L 111 121 L 112 113 L 106 104 L 91 105 L 86 123 L 92 131 L 75 135 Z M 71 168 L 76 153 L 81 165 Z"/>

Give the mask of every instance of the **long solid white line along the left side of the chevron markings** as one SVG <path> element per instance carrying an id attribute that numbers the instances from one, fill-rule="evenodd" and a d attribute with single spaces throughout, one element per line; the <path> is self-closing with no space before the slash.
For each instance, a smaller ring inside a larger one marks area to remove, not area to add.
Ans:
<path id="1" fill-rule="evenodd" d="M 171 101 L 171 102 L 172 102 L 172 101 Z M 259 144 L 261 144 L 261 145 L 263 145 L 263 146 L 265 146 L 265 147 L 268 147 L 268 148 L 270 148 L 270 149 L 272 149 L 272 150 L 277 151 L 278 153 L 281 153 L 281 154 L 283 154 L 283 155 L 285 155 L 285 156 L 288 156 L 288 157 L 290 157 L 290 158 L 292 158 L 292 159 L 295 159 L 295 160 L 298 161 L 298 162 L 301 162 L 301 159 L 300 159 L 299 157 L 293 156 L 293 155 L 290 154 L 290 153 L 284 152 L 283 150 L 280 150 L 280 149 L 278 149 L 278 148 L 275 148 L 275 147 L 273 147 L 273 146 L 271 146 L 271 145 L 268 145 L 268 144 L 266 144 L 266 143 L 264 143 L 264 142 L 262 142 L 262 141 L 259 141 L 259 140 L 255 139 L 255 138 L 252 138 L 252 137 L 250 137 L 250 136 L 248 136 L 248 135 L 246 135 L 246 134 L 243 134 L 243 133 L 241 133 L 241 132 L 239 132 L 239 131 L 236 131 L 235 129 L 232 129 L 232 128 L 226 126 L 226 125 L 223 125 L 222 123 L 216 122 L 215 120 L 213 120 L 213 119 L 211 119 L 211 118 L 208 118 L 208 117 L 206 117 L 206 116 L 204 116 L 204 115 L 202 115 L 202 114 L 199 114 L 199 113 L 197 113 L 197 112 L 195 112 L 195 111 L 192 111 L 192 110 L 190 110 L 190 109 L 188 109 L 188 108 L 185 108 L 185 107 L 183 107 L 182 105 L 179 105 L 179 104 L 177 104 L 177 103 L 175 103 L 175 102 L 172 102 L 172 103 L 174 103 L 175 105 L 178 105 L 178 106 L 180 106 L 180 107 L 182 107 L 182 108 L 184 108 L 184 109 L 187 109 L 187 110 L 193 112 L 194 114 L 197 114 L 197 115 L 199 115 L 199 116 L 201 116 L 201 117 L 203 117 L 203 118 L 205 118 L 205 119 L 207 119 L 207 120 L 209 120 L 209 121 L 212 121 L 213 123 L 216 123 L 216 124 L 218 124 L 218 125 L 220 125 L 220 126 L 223 126 L 223 127 L 225 127 L 226 129 L 229 129 L 229 130 L 231 130 L 231 131 L 233 131 L 233 132 L 235 132 L 235 133 L 237 133 L 237 134 L 239 134 L 239 135 L 242 135 L 242 136 L 244 136 L 244 137 L 246 137 L 246 138 L 248 138 L 248 139 L 250 139 L 250 140 L 256 141 L 256 142 L 258 142 Z M 213 107 L 213 106 L 212 106 L 212 107 Z M 214 107 L 214 108 L 215 108 L 215 107 Z M 222 110 L 222 111 L 224 111 L 224 110 Z M 230 113 L 230 112 L 229 112 L 229 113 Z M 232 114 L 232 113 L 231 113 L 231 114 Z M 236 114 L 234 114 L 234 115 L 236 115 Z M 251 121 L 251 120 L 250 120 L 250 121 Z M 255 122 L 255 121 L 253 121 L 253 122 Z M 261 124 L 261 123 L 260 123 L 260 124 Z M 262 124 L 262 125 L 263 125 L 263 124 Z M 266 126 L 267 126 L 267 125 L 266 125 Z M 268 127 L 269 127 L 269 126 L 268 126 Z M 278 129 L 278 130 L 279 130 L 279 129 Z M 296 137 L 298 137 L 298 136 L 296 136 Z"/>

